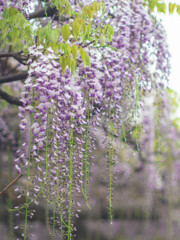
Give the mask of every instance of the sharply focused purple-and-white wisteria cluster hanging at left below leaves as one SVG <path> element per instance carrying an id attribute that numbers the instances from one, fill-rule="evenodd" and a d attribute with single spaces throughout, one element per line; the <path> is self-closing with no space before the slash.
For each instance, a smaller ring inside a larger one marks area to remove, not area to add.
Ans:
<path id="1" fill-rule="evenodd" d="M 59 222 L 68 227 L 70 237 L 72 209 L 77 207 L 73 195 L 81 191 L 81 159 L 87 151 L 86 142 L 81 140 L 87 125 L 86 103 L 76 77 L 68 71 L 63 74 L 54 51 L 48 48 L 48 54 L 44 55 L 43 49 L 42 46 L 32 47 L 29 53 L 36 60 L 29 61 L 31 68 L 22 99 L 24 107 L 20 107 L 19 115 L 22 130 L 28 124 L 26 114 L 31 118 L 29 157 L 27 161 L 23 154 L 16 159 L 16 168 L 21 172 L 20 162 L 23 161 L 30 178 L 30 165 L 33 165 L 36 172 L 31 179 L 37 192 L 34 198 L 43 193 L 55 204 L 60 214 Z M 64 214 L 68 211 L 67 217 Z"/>

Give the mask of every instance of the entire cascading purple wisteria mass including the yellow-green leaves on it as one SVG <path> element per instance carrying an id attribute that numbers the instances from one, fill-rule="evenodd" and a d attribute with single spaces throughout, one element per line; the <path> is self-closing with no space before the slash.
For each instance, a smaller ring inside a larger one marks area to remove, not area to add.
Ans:
<path id="1" fill-rule="evenodd" d="M 50 17 L 45 11 L 40 20 L 33 19 L 35 7 L 30 8 L 29 1 L 0 3 L 2 32 L 3 21 L 10 18 L 7 9 L 15 17 L 22 14 L 20 40 L 28 56 L 19 107 L 24 143 L 15 159 L 18 173 L 27 175 L 26 190 L 22 189 L 26 202 L 14 210 L 25 210 L 24 239 L 29 207 L 40 195 L 54 208 L 52 222 L 61 239 L 72 238 L 72 217 L 78 216 L 80 206 L 76 196 L 82 193 L 88 201 L 90 153 L 99 127 L 108 139 L 112 221 L 114 138 L 126 141 L 125 128 L 137 125 L 143 96 L 163 89 L 170 72 L 165 31 L 142 0 L 58 2 L 42 2 L 42 9 L 55 11 Z M 23 14 L 34 27 L 29 28 Z M 16 24 L 12 26 L 18 29 Z M 145 128 L 148 121 L 144 119 Z M 150 155 L 151 138 L 146 145 Z"/>

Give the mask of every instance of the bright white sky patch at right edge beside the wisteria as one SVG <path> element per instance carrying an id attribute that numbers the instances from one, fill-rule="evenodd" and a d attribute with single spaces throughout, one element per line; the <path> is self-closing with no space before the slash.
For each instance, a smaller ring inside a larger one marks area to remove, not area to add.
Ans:
<path id="1" fill-rule="evenodd" d="M 180 0 L 167 0 L 180 5 Z M 161 19 L 167 32 L 167 42 L 171 53 L 171 76 L 169 87 L 180 95 L 180 15 L 174 12 L 172 15 L 162 14 Z M 179 102 L 180 104 L 180 102 Z M 178 111 L 180 117 L 180 107 Z"/>

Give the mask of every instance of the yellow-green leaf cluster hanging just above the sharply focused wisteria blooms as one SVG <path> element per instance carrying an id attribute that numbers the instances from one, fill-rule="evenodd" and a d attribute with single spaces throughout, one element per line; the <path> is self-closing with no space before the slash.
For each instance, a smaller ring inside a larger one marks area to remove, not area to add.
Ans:
<path id="1" fill-rule="evenodd" d="M 62 6 L 65 6 L 63 3 Z M 60 5 L 54 1 L 55 6 L 59 9 Z M 87 51 L 84 49 L 91 43 L 97 44 L 100 39 L 100 44 L 111 41 L 113 36 L 113 27 L 110 24 L 104 26 L 93 26 L 93 18 L 98 13 L 104 12 L 104 4 L 101 2 L 93 2 L 90 5 L 84 6 L 82 11 L 78 14 L 74 12 L 69 22 L 62 27 L 52 29 L 51 24 L 48 23 L 44 28 L 39 28 L 36 32 L 37 45 L 43 45 L 45 48 L 49 46 L 59 53 L 60 64 L 62 71 L 66 68 L 74 74 L 77 66 L 78 52 L 83 61 L 84 66 L 90 67 L 90 58 Z M 74 44 L 76 43 L 76 44 Z"/>

